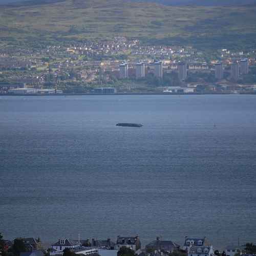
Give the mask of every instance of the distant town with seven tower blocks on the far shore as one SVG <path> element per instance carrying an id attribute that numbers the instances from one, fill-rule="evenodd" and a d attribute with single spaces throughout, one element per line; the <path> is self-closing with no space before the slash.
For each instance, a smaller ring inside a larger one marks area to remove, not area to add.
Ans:
<path id="1" fill-rule="evenodd" d="M 256 93 L 256 54 L 126 37 L 41 49 L 1 45 L 0 93 Z"/>

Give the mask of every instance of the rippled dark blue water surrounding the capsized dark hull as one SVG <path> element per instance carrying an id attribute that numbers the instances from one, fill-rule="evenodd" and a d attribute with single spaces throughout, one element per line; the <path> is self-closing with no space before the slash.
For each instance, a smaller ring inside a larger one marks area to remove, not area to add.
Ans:
<path id="1" fill-rule="evenodd" d="M 255 242 L 252 95 L 2 96 L 0 160 L 6 238 Z"/>

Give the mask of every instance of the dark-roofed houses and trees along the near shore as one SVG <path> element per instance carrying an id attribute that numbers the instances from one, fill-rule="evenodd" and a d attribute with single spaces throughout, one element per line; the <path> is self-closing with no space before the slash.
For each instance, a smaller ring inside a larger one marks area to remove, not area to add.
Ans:
<path id="1" fill-rule="evenodd" d="M 1 233 L 0 233 L 1 235 Z M 110 238 L 105 240 L 92 239 L 69 239 L 59 238 L 53 241 L 50 247 L 38 237 L 16 238 L 14 240 L 1 241 L 1 256 L 252 256 L 256 255 L 256 245 L 226 246 L 223 251 L 214 248 L 209 240 L 204 238 L 185 237 L 182 245 L 171 240 L 157 237 L 144 247 L 138 235 L 133 237 L 118 236 L 115 241 Z"/>

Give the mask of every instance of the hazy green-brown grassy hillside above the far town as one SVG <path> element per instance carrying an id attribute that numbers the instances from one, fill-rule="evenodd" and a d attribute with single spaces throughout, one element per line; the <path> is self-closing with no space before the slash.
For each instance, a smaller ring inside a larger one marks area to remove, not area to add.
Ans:
<path id="1" fill-rule="evenodd" d="M 123 0 L 67 0 L 0 9 L 0 40 L 17 44 L 112 36 L 199 47 L 255 46 L 256 6 L 164 6 Z"/>

